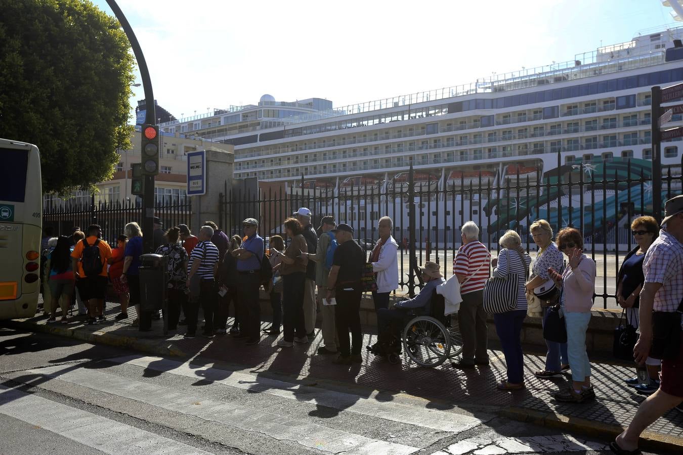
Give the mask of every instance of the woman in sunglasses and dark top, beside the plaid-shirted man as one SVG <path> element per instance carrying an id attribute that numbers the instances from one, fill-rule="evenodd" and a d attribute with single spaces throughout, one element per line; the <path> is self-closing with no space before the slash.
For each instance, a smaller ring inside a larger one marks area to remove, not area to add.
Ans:
<path id="1" fill-rule="evenodd" d="M 633 220 L 631 223 L 631 233 L 638 245 L 626 254 L 617 275 L 617 303 L 622 308 L 626 308 L 626 321 L 636 329 L 640 321 L 638 314 L 640 291 L 643 289 L 643 283 L 645 282 L 643 261 L 645 260 L 645 253 L 650 248 L 650 245 L 652 245 L 654 239 L 657 238 L 658 232 L 659 226 L 652 216 L 640 216 Z M 626 384 L 643 394 L 652 394 L 659 388 L 657 378 L 661 363 L 659 359 L 647 357 L 645 366 L 647 366 L 650 382 L 641 384 L 636 376 L 626 379 Z"/>

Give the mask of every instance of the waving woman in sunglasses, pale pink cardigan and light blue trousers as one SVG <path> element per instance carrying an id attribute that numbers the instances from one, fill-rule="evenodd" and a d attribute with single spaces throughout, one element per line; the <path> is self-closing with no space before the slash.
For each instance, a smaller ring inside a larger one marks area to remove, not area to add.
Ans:
<path id="1" fill-rule="evenodd" d="M 550 278 L 561 288 L 561 305 L 567 326 L 567 355 L 572 368 L 569 390 L 555 394 L 563 402 L 583 402 L 595 398 L 591 386 L 591 364 L 586 352 L 586 330 L 591 320 L 596 284 L 596 263 L 583 254 L 583 236 L 579 230 L 564 228 L 557 233 L 557 246 L 566 254 L 569 266 L 559 274 L 549 269 Z"/>

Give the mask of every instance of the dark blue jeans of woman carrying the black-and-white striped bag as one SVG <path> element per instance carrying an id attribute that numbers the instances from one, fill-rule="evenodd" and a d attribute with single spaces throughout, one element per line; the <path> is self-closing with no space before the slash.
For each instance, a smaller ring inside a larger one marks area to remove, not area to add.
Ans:
<path id="1" fill-rule="evenodd" d="M 496 333 L 501 340 L 503 355 L 505 355 L 507 382 L 512 384 L 524 382 L 524 356 L 520 333 L 525 317 L 527 317 L 527 310 L 513 310 L 493 315 Z"/>

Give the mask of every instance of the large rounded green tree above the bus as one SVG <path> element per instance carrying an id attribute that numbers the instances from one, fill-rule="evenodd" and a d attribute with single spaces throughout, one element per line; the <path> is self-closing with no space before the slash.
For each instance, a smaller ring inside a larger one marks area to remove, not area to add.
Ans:
<path id="1" fill-rule="evenodd" d="M 83 0 L 5 0 L 0 137 L 40 149 L 44 192 L 110 179 L 130 148 L 133 55 L 117 19 Z"/>

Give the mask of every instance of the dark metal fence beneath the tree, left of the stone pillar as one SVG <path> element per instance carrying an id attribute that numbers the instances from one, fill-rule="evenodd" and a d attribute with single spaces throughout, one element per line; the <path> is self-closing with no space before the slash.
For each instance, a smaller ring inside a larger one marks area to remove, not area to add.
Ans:
<path id="1" fill-rule="evenodd" d="M 154 205 L 154 216 L 161 219 L 164 226 L 190 225 L 192 207 L 187 198 L 181 203 L 160 203 Z M 90 224 L 102 226 L 102 238 L 110 245 L 116 245 L 116 238 L 124 233 L 124 226 L 137 222 L 142 226 L 142 207 L 135 201 L 124 203 L 96 203 L 92 194 L 89 201 L 66 200 L 59 203 L 49 201 L 43 207 L 43 227 L 51 226 L 53 235 L 71 235 L 74 228 L 82 231 Z"/>

